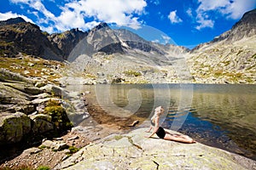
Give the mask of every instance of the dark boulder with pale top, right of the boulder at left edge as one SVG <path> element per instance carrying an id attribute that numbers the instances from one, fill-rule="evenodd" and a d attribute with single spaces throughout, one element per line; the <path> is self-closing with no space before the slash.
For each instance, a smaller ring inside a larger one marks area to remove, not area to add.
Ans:
<path id="1" fill-rule="evenodd" d="M 45 133 L 54 129 L 52 117 L 49 115 L 38 114 L 30 118 L 32 119 L 32 133 Z"/>

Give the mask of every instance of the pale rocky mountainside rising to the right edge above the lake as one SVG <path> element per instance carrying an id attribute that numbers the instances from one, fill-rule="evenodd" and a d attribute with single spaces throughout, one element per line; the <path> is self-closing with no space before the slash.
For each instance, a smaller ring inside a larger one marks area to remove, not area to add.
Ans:
<path id="1" fill-rule="evenodd" d="M 195 82 L 256 82 L 256 10 L 243 15 L 230 31 L 193 49 L 187 56 Z"/>

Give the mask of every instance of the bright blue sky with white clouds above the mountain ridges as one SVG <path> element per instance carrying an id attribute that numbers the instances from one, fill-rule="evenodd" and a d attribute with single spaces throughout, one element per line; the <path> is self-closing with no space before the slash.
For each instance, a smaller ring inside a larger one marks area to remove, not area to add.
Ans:
<path id="1" fill-rule="evenodd" d="M 49 33 L 87 31 L 102 21 L 138 31 L 148 26 L 162 32 L 160 42 L 193 48 L 230 30 L 253 8 L 256 0 L 1 0 L 0 20 L 21 16 Z M 145 38 L 159 41 L 148 32 Z"/>

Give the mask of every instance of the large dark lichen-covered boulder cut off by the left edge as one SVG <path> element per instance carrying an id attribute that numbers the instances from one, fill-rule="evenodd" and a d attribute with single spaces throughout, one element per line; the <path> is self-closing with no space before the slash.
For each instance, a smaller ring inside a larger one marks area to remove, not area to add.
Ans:
<path id="1" fill-rule="evenodd" d="M 0 116 L 0 144 L 20 142 L 23 137 L 30 133 L 31 120 L 26 114 L 1 113 Z"/>

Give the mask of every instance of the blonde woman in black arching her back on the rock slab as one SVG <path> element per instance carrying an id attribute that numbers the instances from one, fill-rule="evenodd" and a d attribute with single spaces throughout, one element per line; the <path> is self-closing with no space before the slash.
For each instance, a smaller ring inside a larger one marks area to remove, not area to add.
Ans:
<path id="1" fill-rule="evenodd" d="M 147 138 L 150 138 L 151 136 L 154 135 L 154 133 L 156 133 L 156 135 L 160 139 L 173 140 L 173 141 L 187 143 L 187 144 L 195 143 L 195 140 L 189 138 L 189 136 L 180 135 L 180 134 L 171 134 L 169 132 L 166 132 L 163 127 L 159 126 L 160 115 L 163 114 L 164 111 L 165 110 L 162 106 L 155 108 L 154 116 L 152 116 L 151 118 L 151 122 L 152 122 L 151 124 L 154 124 L 154 130 L 153 130 L 153 133 L 151 133 Z M 147 133 L 149 133 L 151 129 L 152 129 L 152 125 L 150 126 Z"/>

